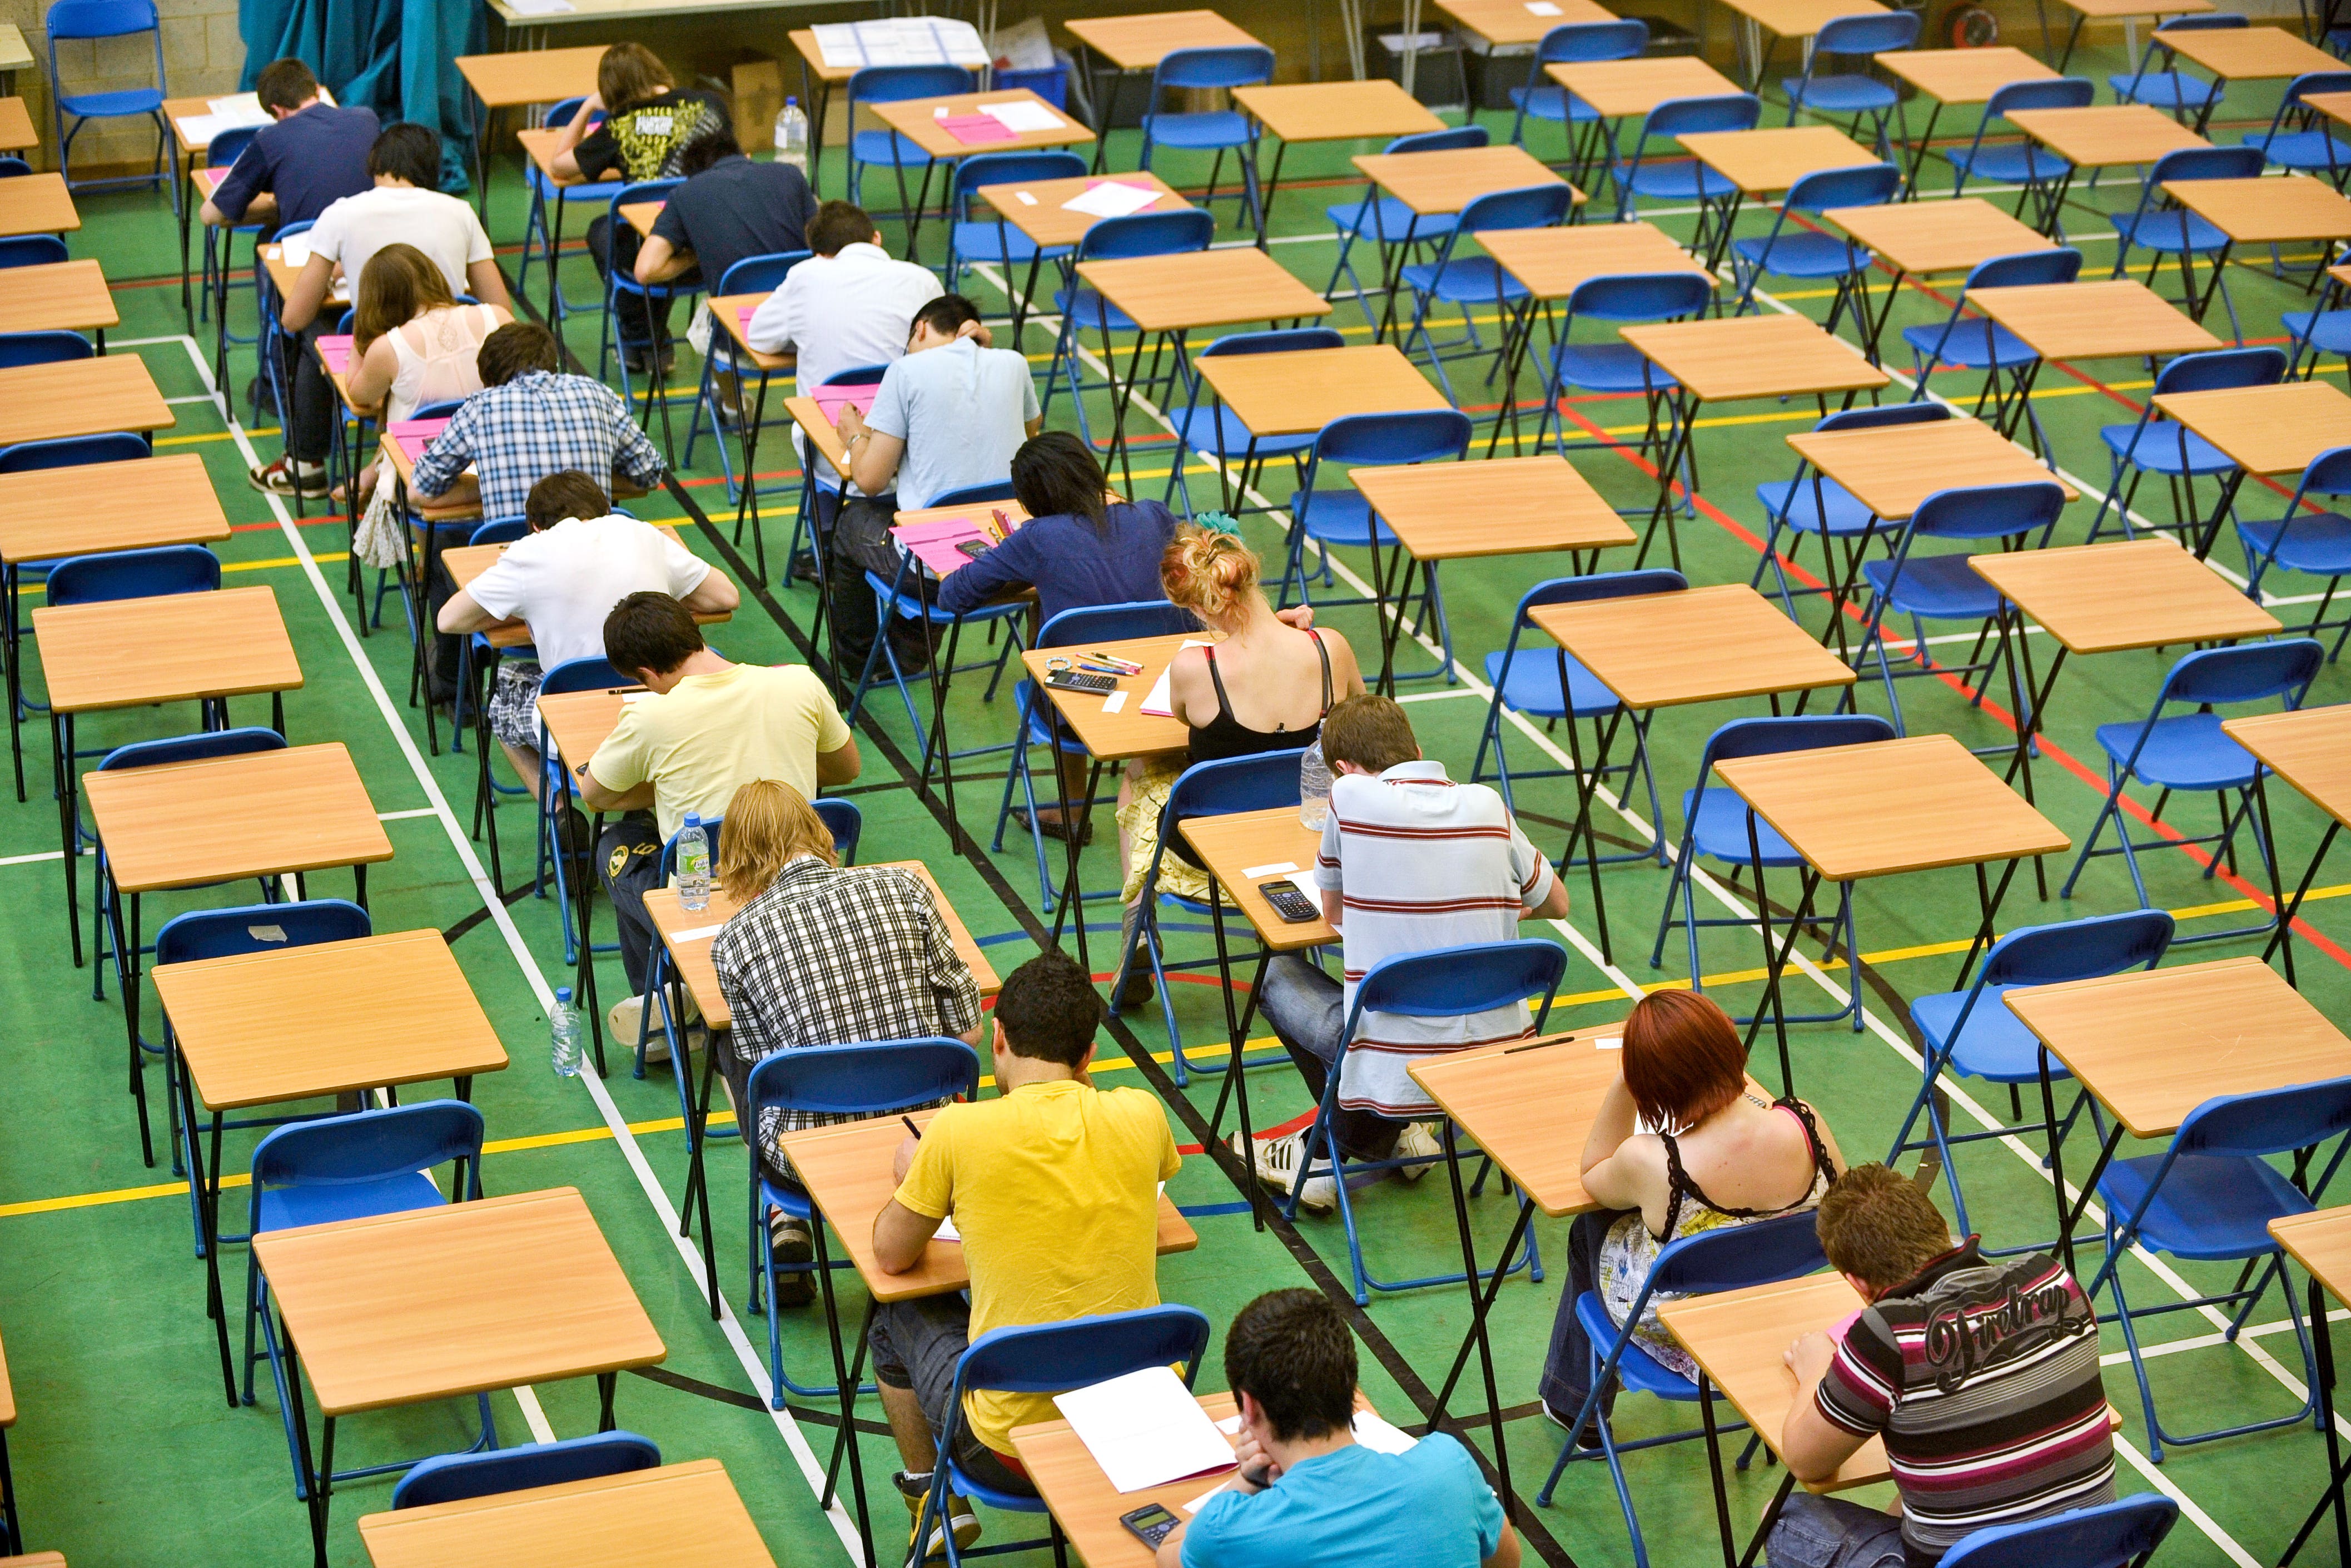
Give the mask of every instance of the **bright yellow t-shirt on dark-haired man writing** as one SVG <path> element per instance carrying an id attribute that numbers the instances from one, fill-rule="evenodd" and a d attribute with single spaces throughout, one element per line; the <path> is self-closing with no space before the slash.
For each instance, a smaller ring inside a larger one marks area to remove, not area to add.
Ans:
<path id="1" fill-rule="evenodd" d="M 950 1105 L 924 1128 L 898 1201 L 955 1213 L 971 1267 L 971 1338 L 1159 1305 L 1159 1182 L 1183 1157 L 1159 1100 L 1074 1079 Z M 973 1392 L 973 1434 L 1058 1420 L 1051 1394 Z"/>

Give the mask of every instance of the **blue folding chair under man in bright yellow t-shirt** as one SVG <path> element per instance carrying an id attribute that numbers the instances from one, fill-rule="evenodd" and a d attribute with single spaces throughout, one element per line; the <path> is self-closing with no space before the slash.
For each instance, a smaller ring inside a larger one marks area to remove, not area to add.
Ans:
<path id="1" fill-rule="evenodd" d="M 945 1519 L 947 1493 L 983 1502 L 1006 1514 L 1044 1514 L 1046 1533 L 1037 1540 L 1004 1542 L 964 1552 L 955 1544 L 955 1530 L 945 1535 L 947 1568 L 962 1568 L 966 1556 L 994 1556 L 999 1552 L 1032 1552 L 1053 1547 L 1056 1563 L 1063 1559 L 1060 1526 L 1046 1512 L 1044 1497 L 1023 1493 L 999 1493 L 973 1481 L 955 1462 L 957 1439 L 964 1422 L 969 1394 L 1067 1394 L 1096 1382 L 1110 1382 L 1126 1373 L 1154 1366 L 1180 1366 L 1185 1387 L 1199 1373 L 1199 1361 L 1208 1352 L 1208 1316 L 1194 1307 L 1138 1307 L 1133 1312 L 1103 1312 L 1098 1316 L 1074 1316 L 1060 1324 L 1030 1324 L 1020 1328 L 990 1328 L 964 1349 L 955 1363 L 955 1389 L 947 1394 L 947 1429 L 938 1434 L 938 1460 L 931 1465 L 931 1490 L 915 1514 L 915 1540 L 924 1542 Z"/>

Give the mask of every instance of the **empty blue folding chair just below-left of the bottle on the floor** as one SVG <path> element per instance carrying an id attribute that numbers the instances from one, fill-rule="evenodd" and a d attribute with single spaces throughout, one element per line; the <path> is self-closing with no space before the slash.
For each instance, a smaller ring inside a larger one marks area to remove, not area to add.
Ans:
<path id="1" fill-rule="evenodd" d="M 430 1171 L 454 1166 L 449 1197 L 442 1197 Z M 463 1100 L 423 1100 L 390 1110 L 362 1110 L 346 1117 L 317 1117 L 282 1126 L 254 1147 L 249 1234 L 334 1225 L 416 1208 L 440 1208 L 482 1197 L 482 1112 Z M 261 1345 L 254 1345 L 254 1326 Z M 294 1497 L 308 1500 L 303 1486 L 303 1450 L 294 1436 L 294 1401 L 301 1389 L 287 1387 L 277 1328 L 270 1324 L 270 1281 L 261 1258 L 245 1253 L 245 1403 L 254 1403 L 254 1361 L 268 1356 L 277 1385 L 277 1415 L 287 1434 L 287 1458 L 294 1465 Z M 465 1453 L 498 1446 L 498 1422 L 489 1413 L 489 1394 L 475 1394 L 482 1432 Z M 386 1476 L 416 1460 L 360 1465 L 327 1474 L 327 1483 L 360 1476 Z"/>

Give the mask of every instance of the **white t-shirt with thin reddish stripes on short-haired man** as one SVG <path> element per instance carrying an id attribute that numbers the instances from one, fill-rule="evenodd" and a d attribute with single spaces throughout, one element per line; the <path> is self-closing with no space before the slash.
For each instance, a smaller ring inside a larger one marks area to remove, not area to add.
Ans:
<path id="1" fill-rule="evenodd" d="M 1552 896 L 1552 863 L 1509 820 L 1486 785 L 1446 778 L 1441 762 L 1399 762 L 1378 778 L 1331 780 L 1314 884 L 1340 893 L 1345 919 L 1345 1006 L 1382 959 L 1519 936 L 1523 910 Z M 1498 1039 L 1531 1027 L 1523 1004 L 1462 1018 L 1364 1013 L 1340 1067 L 1338 1103 L 1389 1117 L 1429 1110 L 1406 1072 L 1415 1058 Z"/>

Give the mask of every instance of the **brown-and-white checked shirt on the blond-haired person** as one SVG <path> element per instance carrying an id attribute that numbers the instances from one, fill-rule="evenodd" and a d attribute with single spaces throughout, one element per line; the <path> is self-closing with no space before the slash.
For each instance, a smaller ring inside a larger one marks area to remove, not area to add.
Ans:
<path id="1" fill-rule="evenodd" d="M 980 1023 L 980 983 L 931 889 L 900 870 L 792 860 L 726 922 L 710 966 L 745 1065 L 792 1046 L 969 1034 Z M 783 1164 L 776 1133 L 856 1119 L 766 1110 L 759 1143 Z"/>

